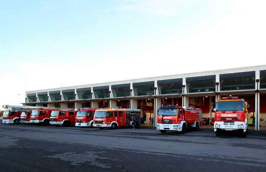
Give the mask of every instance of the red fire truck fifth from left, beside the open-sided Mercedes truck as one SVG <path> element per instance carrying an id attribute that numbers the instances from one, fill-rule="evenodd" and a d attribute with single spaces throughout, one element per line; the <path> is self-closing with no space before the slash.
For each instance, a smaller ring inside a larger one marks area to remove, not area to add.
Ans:
<path id="1" fill-rule="evenodd" d="M 95 113 L 94 108 L 80 108 L 76 116 L 75 126 L 79 127 L 93 127 L 93 117 Z"/>

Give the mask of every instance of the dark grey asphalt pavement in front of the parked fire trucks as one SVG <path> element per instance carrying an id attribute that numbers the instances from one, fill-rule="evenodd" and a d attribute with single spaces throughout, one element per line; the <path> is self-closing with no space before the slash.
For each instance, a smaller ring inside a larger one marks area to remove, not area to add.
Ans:
<path id="1" fill-rule="evenodd" d="M 3 124 L 0 171 L 266 171 L 266 131 L 99 129 Z"/>

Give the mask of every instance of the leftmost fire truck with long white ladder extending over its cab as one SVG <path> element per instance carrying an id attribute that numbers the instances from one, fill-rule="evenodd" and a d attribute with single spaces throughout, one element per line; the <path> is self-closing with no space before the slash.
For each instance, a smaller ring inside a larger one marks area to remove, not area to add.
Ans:
<path id="1" fill-rule="evenodd" d="M 16 105 L 3 105 L 3 108 L 8 109 L 3 114 L 3 123 L 6 124 L 19 124 L 20 115 L 22 112 L 36 109 L 36 106 L 16 106 Z"/>

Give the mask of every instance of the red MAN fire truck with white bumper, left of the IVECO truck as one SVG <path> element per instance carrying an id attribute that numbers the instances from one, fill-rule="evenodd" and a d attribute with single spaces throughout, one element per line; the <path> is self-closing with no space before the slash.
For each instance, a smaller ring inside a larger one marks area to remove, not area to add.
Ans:
<path id="1" fill-rule="evenodd" d="M 156 127 L 161 133 L 166 133 L 168 130 L 171 130 L 184 134 L 190 128 L 198 131 L 201 119 L 201 109 L 178 105 L 161 106 L 158 109 Z"/>

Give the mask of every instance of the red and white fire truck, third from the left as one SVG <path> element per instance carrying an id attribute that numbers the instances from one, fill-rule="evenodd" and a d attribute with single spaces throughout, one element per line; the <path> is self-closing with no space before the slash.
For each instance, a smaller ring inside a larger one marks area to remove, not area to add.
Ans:
<path id="1" fill-rule="evenodd" d="M 30 124 L 38 124 L 38 125 L 49 125 L 50 123 L 50 115 L 51 112 L 55 108 L 38 108 L 32 110 L 31 116 L 30 116 Z"/>

